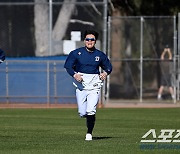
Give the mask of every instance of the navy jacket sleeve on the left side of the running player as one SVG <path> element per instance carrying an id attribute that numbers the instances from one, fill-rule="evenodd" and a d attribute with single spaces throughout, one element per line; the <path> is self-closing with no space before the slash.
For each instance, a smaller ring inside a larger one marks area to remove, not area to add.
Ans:
<path id="1" fill-rule="evenodd" d="M 64 68 L 71 76 L 73 76 L 76 73 L 74 70 L 75 62 L 76 62 L 76 57 L 74 56 L 73 51 L 71 51 L 64 64 Z"/>

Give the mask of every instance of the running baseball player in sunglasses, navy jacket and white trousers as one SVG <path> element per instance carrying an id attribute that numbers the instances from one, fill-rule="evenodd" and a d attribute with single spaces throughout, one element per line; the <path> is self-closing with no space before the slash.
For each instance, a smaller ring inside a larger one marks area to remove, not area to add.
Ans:
<path id="1" fill-rule="evenodd" d="M 73 50 L 68 55 L 64 67 L 73 77 L 76 87 L 76 99 L 80 117 L 86 118 L 87 134 L 85 140 L 92 140 L 95 125 L 96 106 L 103 80 L 112 71 L 108 57 L 95 48 L 98 33 L 86 30 L 84 33 L 85 47 Z M 100 73 L 99 68 L 103 69 Z"/>

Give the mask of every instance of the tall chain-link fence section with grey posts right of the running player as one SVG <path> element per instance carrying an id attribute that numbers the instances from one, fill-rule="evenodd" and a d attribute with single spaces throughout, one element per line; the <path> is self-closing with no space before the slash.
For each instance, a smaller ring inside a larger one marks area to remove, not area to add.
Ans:
<path id="1" fill-rule="evenodd" d="M 176 18 L 109 17 L 109 55 L 113 72 L 109 99 L 156 101 L 162 74 L 160 56 L 166 45 L 173 54 L 172 82 L 176 92 Z M 170 64 L 171 63 L 171 64 Z M 163 94 L 169 99 L 168 89 Z"/>

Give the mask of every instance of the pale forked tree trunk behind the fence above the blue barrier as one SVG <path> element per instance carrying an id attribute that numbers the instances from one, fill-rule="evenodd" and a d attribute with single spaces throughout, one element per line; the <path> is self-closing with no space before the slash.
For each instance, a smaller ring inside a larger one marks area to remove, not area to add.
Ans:
<path id="1" fill-rule="evenodd" d="M 76 0 L 65 0 L 54 29 L 52 30 L 52 53 L 49 52 L 49 6 L 46 0 L 35 0 L 34 24 L 36 56 L 52 56 L 63 53 L 62 39 L 75 8 Z"/>

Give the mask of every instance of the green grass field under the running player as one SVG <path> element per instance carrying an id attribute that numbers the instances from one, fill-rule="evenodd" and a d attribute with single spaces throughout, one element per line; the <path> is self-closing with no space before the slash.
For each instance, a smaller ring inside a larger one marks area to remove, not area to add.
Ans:
<path id="1" fill-rule="evenodd" d="M 180 108 L 98 109 L 93 141 L 84 140 L 85 119 L 77 109 L 0 109 L 0 154 L 180 153 L 140 148 L 152 128 L 157 136 L 161 129 L 180 129 Z"/>

